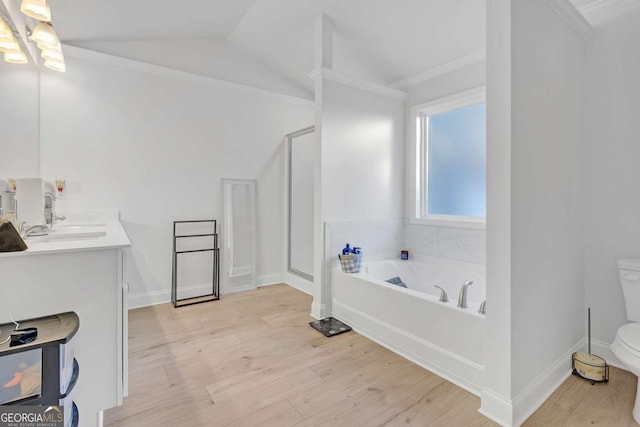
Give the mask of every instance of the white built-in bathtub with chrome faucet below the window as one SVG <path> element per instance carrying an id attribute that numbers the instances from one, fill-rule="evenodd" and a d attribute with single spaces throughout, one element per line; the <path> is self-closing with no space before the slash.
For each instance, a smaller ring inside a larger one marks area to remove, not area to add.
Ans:
<path id="1" fill-rule="evenodd" d="M 332 271 L 332 314 L 356 331 L 479 395 L 484 375 L 484 266 L 444 258 L 365 263 L 360 273 Z M 386 283 L 400 277 L 407 288 Z M 456 307 L 472 280 L 468 308 Z M 438 301 L 442 286 L 448 303 Z M 491 307 L 488 306 L 487 310 Z"/>

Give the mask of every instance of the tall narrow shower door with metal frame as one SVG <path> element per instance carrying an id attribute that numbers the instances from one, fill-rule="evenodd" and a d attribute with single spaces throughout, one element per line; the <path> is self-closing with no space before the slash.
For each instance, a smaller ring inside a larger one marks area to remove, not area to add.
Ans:
<path id="1" fill-rule="evenodd" d="M 287 135 L 289 212 L 287 269 L 313 281 L 313 203 L 315 133 L 313 126 Z"/>

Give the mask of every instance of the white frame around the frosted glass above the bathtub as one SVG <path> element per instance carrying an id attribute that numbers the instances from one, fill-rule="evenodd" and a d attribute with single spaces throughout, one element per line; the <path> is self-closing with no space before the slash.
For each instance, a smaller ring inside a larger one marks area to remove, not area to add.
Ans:
<path id="1" fill-rule="evenodd" d="M 486 228 L 485 217 L 462 215 L 429 215 L 427 214 L 427 202 L 429 200 L 427 168 L 428 168 L 428 140 L 425 122 L 428 116 L 471 105 L 486 103 L 486 86 L 479 86 L 463 92 L 459 92 L 443 98 L 438 98 L 423 104 L 411 107 L 409 116 L 409 134 L 411 137 L 410 164 L 413 164 L 411 173 L 411 215 L 410 221 L 416 224 L 438 225 L 460 228 Z M 419 125 L 420 123 L 420 125 Z"/>

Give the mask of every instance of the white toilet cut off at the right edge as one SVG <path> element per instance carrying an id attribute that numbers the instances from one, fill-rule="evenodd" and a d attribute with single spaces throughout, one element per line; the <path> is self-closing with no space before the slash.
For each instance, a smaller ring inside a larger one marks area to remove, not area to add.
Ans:
<path id="1" fill-rule="evenodd" d="M 640 259 L 618 261 L 620 283 L 627 308 L 627 323 L 618 329 L 611 351 L 629 372 L 640 377 Z M 640 381 L 633 406 L 633 418 L 640 423 Z"/>

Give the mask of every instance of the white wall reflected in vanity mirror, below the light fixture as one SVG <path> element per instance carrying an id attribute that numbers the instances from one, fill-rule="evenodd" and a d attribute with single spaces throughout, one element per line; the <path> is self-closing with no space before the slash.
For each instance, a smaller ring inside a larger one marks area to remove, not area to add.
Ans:
<path id="1" fill-rule="evenodd" d="M 0 61 L 0 179 L 38 176 L 38 71 Z"/>

